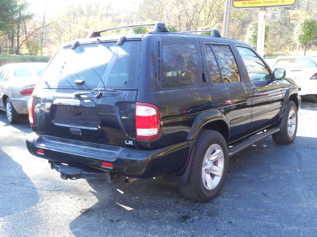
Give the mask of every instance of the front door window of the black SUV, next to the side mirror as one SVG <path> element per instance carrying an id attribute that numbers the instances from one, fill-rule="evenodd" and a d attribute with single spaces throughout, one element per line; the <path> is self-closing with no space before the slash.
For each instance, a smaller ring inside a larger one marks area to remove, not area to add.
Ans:
<path id="1" fill-rule="evenodd" d="M 250 49 L 237 46 L 251 81 L 270 80 L 268 69 L 263 61 Z"/>

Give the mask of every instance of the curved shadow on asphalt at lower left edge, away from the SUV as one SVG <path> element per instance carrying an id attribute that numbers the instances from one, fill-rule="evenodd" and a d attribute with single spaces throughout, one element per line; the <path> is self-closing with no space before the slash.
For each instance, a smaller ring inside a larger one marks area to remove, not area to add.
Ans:
<path id="1" fill-rule="evenodd" d="M 0 150 L 0 200 L 0 217 L 22 212 L 39 201 L 35 186 L 23 172 L 22 166 L 2 150 Z M 8 230 L 7 226 L 6 229 Z"/>

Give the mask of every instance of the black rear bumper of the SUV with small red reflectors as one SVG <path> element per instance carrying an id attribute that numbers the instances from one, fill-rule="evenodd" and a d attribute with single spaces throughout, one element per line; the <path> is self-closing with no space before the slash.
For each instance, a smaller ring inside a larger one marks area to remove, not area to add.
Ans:
<path id="1" fill-rule="evenodd" d="M 137 150 L 31 133 L 26 145 L 32 155 L 54 162 L 128 177 L 151 178 L 180 171 L 186 164 L 190 142 Z M 44 155 L 38 154 L 37 149 L 43 150 Z M 113 167 L 103 167 L 103 161 L 112 163 Z"/>

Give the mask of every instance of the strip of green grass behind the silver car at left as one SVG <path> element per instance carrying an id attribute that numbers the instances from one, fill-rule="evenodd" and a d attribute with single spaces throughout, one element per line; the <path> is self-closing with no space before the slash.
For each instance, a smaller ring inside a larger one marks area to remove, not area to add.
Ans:
<path id="1" fill-rule="evenodd" d="M 50 60 L 50 58 L 51 56 L 0 54 L 0 66 L 7 63 L 30 63 L 30 62 L 47 63 Z"/>

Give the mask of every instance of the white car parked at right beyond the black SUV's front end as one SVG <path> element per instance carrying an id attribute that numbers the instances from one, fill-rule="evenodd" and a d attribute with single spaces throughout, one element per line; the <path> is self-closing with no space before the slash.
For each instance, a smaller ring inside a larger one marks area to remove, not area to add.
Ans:
<path id="1" fill-rule="evenodd" d="M 299 95 L 317 95 L 317 63 L 307 56 L 278 57 L 273 69 L 282 68 L 298 85 Z"/>

